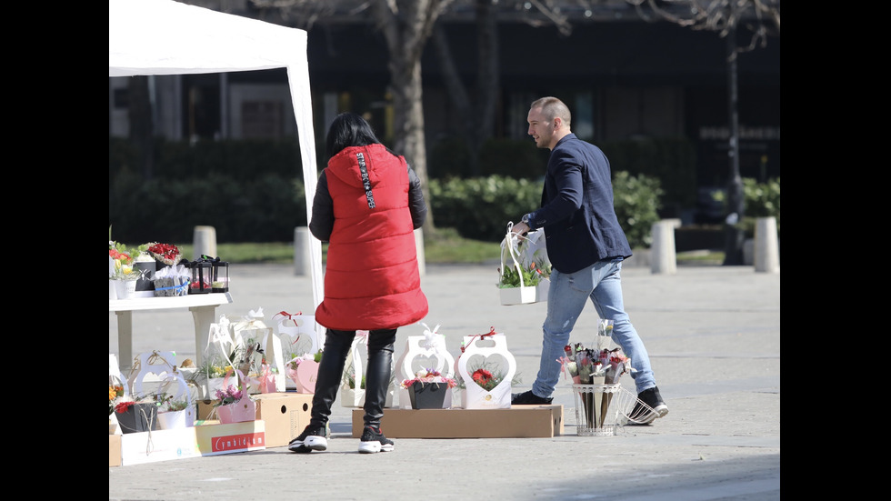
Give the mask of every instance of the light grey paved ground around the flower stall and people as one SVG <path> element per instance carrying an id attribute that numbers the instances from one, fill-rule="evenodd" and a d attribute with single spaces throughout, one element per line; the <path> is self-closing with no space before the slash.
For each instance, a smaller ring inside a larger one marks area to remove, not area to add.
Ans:
<path id="1" fill-rule="evenodd" d="M 421 286 L 446 346 L 460 354 L 463 336 L 490 326 L 504 332 L 526 391 L 535 380 L 546 304 L 501 306 L 498 264 L 428 265 Z M 240 317 L 262 307 L 314 311 L 311 280 L 293 266 L 236 265 L 233 303 L 216 315 Z M 664 499 L 752 501 L 780 498 L 780 276 L 753 266 L 678 266 L 674 275 L 648 267 L 622 270 L 626 311 L 644 339 L 670 409 L 650 426 L 616 436 L 576 436 L 575 398 L 561 380 L 564 435 L 552 438 L 395 439 L 395 450 L 360 455 L 352 409 L 340 396 L 325 452 L 287 447 L 108 468 L 110 500 Z M 593 306 L 571 341 L 589 346 L 599 318 Z M 133 314 L 133 353 L 175 351 L 195 359 L 187 310 Z M 406 336 L 399 329 L 395 356 Z M 108 316 L 108 349 L 117 353 L 117 320 Z M 630 376 L 622 384 L 634 391 Z M 382 423 L 386 434 L 386 421 Z"/>

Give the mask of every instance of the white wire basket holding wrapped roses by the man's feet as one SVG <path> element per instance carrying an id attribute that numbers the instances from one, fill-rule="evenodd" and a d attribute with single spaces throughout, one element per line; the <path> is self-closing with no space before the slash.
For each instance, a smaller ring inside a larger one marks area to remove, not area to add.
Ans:
<path id="1" fill-rule="evenodd" d="M 634 421 L 629 416 L 639 400 L 619 384 L 573 385 L 573 394 L 578 436 L 613 436 L 616 428 Z"/>

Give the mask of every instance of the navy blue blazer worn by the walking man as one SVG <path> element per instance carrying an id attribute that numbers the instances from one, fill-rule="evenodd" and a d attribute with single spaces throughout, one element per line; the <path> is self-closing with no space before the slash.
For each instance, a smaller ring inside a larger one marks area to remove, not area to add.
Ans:
<path id="1" fill-rule="evenodd" d="M 609 161 L 575 134 L 551 151 L 541 208 L 529 214 L 528 225 L 545 229 L 547 257 L 561 273 L 632 256 L 613 207 Z"/>

